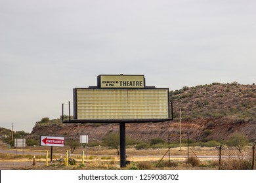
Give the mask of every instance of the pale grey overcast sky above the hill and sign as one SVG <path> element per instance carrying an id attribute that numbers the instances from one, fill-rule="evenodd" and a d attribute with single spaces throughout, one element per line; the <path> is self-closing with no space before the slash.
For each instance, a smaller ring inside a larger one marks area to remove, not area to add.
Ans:
<path id="1" fill-rule="evenodd" d="M 103 74 L 169 90 L 252 84 L 256 1 L 0 0 L 0 63 L 0 127 L 14 131 L 59 118 Z"/>

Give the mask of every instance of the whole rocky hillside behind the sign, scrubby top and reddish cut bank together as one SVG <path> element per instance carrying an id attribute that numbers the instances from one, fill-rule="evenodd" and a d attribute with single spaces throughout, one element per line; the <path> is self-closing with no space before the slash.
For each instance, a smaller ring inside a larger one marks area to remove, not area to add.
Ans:
<path id="1" fill-rule="evenodd" d="M 126 124 L 127 136 L 137 141 L 179 137 L 179 109 L 182 134 L 195 141 L 221 141 L 232 133 L 243 133 L 256 141 L 256 86 L 213 83 L 171 91 L 175 121 L 146 124 Z M 39 135 L 78 138 L 89 135 L 89 141 L 100 141 L 111 131 L 119 131 L 119 124 L 62 124 L 60 120 L 43 118 L 33 127 L 32 137 Z"/>

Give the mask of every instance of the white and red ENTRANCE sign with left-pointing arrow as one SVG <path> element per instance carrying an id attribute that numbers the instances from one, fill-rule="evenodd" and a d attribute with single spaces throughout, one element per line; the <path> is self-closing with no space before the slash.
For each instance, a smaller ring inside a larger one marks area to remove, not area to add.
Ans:
<path id="1" fill-rule="evenodd" d="M 40 146 L 58 146 L 64 147 L 64 137 L 41 136 Z"/>

